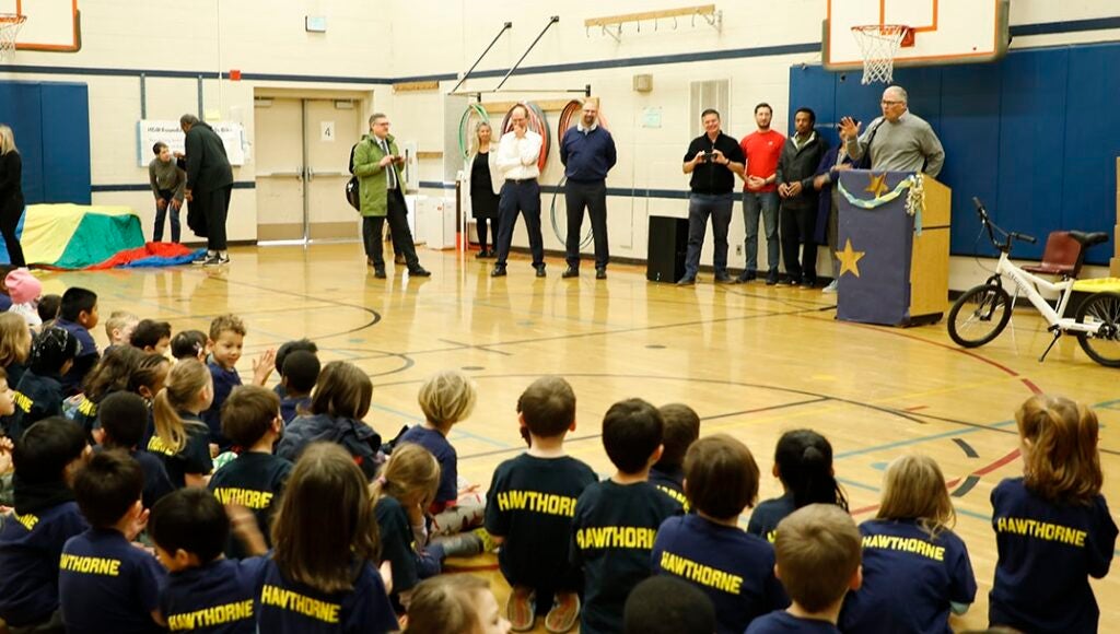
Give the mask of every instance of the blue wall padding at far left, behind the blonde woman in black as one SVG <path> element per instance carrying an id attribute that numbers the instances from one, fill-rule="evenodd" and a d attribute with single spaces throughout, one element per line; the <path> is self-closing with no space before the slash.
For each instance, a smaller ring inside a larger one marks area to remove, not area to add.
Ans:
<path id="1" fill-rule="evenodd" d="M 24 159 L 27 204 L 90 204 L 90 93 L 85 84 L 0 82 L 0 122 Z"/>

